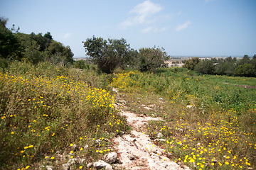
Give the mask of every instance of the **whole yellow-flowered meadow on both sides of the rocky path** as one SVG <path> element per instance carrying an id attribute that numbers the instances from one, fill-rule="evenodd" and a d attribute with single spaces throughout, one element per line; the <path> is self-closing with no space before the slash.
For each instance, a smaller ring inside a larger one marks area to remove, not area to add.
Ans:
<path id="1" fill-rule="evenodd" d="M 242 85 L 256 86 L 256 79 L 178 67 L 99 74 L 12 62 L 0 73 L 0 169 L 60 169 L 78 157 L 85 161 L 73 169 L 86 169 L 115 151 L 113 137 L 131 130 L 114 106 L 120 99 L 123 109 L 163 118 L 144 132 L 152 139 L 161 132 L 164 140 L 155 145 L 178 164 L 255 169 L 256 89 Z"/>

